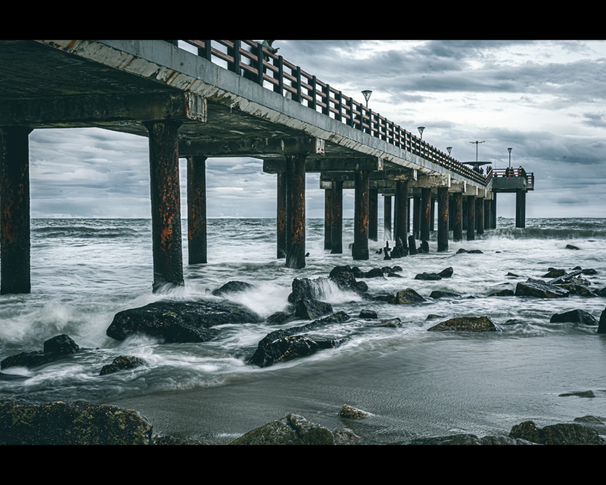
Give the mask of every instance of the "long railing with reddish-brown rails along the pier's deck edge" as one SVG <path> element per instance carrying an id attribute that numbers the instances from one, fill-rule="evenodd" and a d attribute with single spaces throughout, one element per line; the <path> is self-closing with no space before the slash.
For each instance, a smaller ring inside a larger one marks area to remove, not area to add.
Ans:
<path id="1" fill-rule="evenodd" d="M 307 104 L 307 107 L 331 116 L 337 121 L 421 156 L 484 186 L 490 180 L 490 177 L 474 172 L 468 166 L 441 152 L 418 136 L 407 132 L 385 116 L 368 109 L 362 102 L 355 101 L 331 85 L 320 81 L 316 76 L 305 72 L 298 65 L 288 62 L 282 56 L 270 53 L 258 42 L 238 40 L 184 42 L 197 47 L 198 55 L 208 61 L 215 63 L 216 59 L 225 61 L 227 69 L 231 72 L 244 75 L 261 86 L 264 85 L 264 81 L 267 81 L 274 92 L 280 93 L 282 96 L 288 93 L 295 101 Z M 243 46 L 250 47 L 250 52 Z M 267 56 L 270 61 L 263 60 L 264 56 Z M 245 59 L 248 59 L 248 62 L 245 62 Z M 262 76 L 259 76 L 259 59 L 263 66 Z"/>

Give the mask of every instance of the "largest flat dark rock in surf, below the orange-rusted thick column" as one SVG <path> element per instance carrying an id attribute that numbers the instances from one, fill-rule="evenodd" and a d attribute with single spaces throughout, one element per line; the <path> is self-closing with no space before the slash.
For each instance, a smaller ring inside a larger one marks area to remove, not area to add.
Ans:
<path id="1" fill-rule="evenodd" d="M 236 303 L 164 300 L 116 313 L 106 333 L 116 340 L 141 332 L 165 342 L 205 342 L 216 335 L 209 327 L 259 320 Z"/>

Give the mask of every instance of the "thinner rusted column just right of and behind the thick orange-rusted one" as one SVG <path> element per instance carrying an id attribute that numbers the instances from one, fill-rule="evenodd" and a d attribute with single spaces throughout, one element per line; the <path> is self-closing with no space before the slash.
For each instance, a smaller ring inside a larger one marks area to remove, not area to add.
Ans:
<path id="1" fill-rule="evenodd" d="M 187 262 L 206 263 L 206 158 L 187 157 Z"/>

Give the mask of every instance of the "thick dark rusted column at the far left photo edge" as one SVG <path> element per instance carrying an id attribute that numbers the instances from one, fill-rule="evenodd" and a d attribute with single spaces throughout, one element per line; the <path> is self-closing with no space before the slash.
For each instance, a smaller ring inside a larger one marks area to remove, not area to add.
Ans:
<path id="1" fill-rule="evenodd" d="M 29 128 L 0 128 L 0 294 L 29 293 Z"/>

